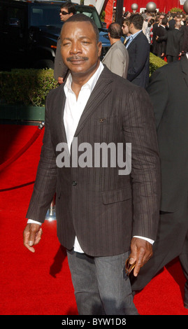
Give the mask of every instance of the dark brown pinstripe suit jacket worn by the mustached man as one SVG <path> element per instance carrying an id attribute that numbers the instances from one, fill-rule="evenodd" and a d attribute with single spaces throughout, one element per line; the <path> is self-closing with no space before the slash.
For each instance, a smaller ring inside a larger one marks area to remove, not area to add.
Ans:
<path id="1" fill-rule="evenodd" d="M 110 161 L 108 167 L 57 167 L 57 144 L 66 142 L 64 104 L 60 85 L 47 97 L 41 160 L 27 218 L 43 222 L 57 192 L 57 235 L 68 249 L 75 235 L 83 251 L 94 256 L 128 251 L 132 235 L 155 239 L 159 156 L 147 92 L 105 67 L 75 132 L 78 145 L 87 142 L 93 149 L 94 143 L 131 143 L 132 169 L 126 176 L 110 167 Z"/>

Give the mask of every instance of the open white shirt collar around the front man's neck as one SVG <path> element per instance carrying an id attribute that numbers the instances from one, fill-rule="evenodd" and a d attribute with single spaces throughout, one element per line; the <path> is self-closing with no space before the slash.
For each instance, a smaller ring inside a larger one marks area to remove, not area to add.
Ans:
<path id="1" fill-rule="evenodd" d="M 100 62 L 98 69 L 94 72 L 94 74 L 92 75 L 92 77 L 87 81 L 87 83 L 85 83 L 85 85 L 82 85 L 81 90 L 84 88 L 89 88 L 90 92 L 92 92 L 92 90 L 94 89 L 94 86 L 96 85 L 96 81 L 99 79 L 99 76 L 101 75 L 101 72 L 103 71 L 103 64 Z M 68 90 L 72 91 L 72 76 L 71 73 L 68 75 L 68 78 L 66 79 L 66 83 L 64 85 L 64 92 L 65 95 L 67 96 L 68 94 Z"/>

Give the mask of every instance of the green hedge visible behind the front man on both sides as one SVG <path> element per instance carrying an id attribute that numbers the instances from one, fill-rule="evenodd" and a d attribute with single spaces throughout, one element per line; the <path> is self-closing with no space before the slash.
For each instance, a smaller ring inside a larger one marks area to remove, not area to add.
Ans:
<path id="1" fill-rule="evenodd" d="M 164 64 L 164 60 L 150 53 L 150 75 Z M 52 69 L 13 69 L 10 72 L 0 72 L 0 104 L 45 106 L 45 97 L 57 85 Z"/>

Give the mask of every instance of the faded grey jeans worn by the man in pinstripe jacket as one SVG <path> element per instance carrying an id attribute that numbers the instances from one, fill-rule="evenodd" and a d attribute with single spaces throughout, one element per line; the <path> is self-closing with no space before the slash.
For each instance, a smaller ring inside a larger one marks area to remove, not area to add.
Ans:
<path id="1" fill-rule="evenodd" d="M 138 315 L 124 264 L 129 252 L 91 257 L 67 251 L 79 315 Z"/>

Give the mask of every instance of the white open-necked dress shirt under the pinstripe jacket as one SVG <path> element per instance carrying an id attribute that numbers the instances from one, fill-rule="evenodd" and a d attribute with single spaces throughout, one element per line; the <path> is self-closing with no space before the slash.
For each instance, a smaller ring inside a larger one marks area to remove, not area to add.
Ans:
<path id="1" fill-rule="evenodd" d="M 103 64 L 100 62 L 99 68 L 96 70 L 92 78 L 90 78 L 89 81 L 85 83 L 85 85 L 82 85 L 78 95 L 78 99 L 76 99 L 75 93 L 71 88 L 71 84 L 72 84 L 71 74 L 69 74 L 66 80 L 66 83 L 64 85 L 64 92 L 66 95 L 66 103 L 64 107 L 64 127 L 66 130 L 66 139 L 67 139 L 69 152 L 71 150 L 71 143 L 73 141 L 75 130 L 78 127 L 80 117 L 82 116 L 82 112 L 85 109 L 85 105 L 87 104 L 89 96 L 92 93 L 94 86 L 96 85 L 96 81 L 99 79 L 99 76 L 103 71 L 103 67 L 104 67 Z M 27 223 L 36 223 L 41 225 L 40 222 L 33 221 L 31 219 L 29 219 Z M 151 239 L 147 239 L 145 237 L 139 237 L 139 238 L 145 239 L 149 241 L 151 244 L 154 243 L 154 241 Z M 80 247 L 77 237 L 75 237 L 74 251 L 77 251 L 79 253 L 84 253 L 84 251 L 82 251 L 82 248 Z"/>

